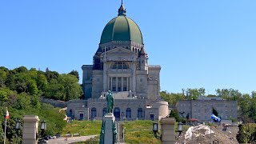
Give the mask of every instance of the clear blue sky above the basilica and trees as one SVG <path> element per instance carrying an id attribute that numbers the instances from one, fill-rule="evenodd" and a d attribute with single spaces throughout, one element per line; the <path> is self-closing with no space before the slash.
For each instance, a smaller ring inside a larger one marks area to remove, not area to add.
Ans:
<path id="1" fill-rule="evenodd" d="M 121 0 L 0 1 L 0 66 L 69 73 L 92 64 Z M 161 90 L 256 90 L 255 0 L 124 0 L 142 30 Z M 80 80 L 81 82 L 81 80 Z"/>

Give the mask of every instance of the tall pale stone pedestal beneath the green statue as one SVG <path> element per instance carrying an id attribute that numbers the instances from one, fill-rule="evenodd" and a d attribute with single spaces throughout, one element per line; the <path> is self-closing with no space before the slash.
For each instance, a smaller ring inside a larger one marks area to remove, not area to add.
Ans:
<path id="1" fill-rule="evenodd" d="M 113 122 L 115 121 L 114 114 L 112 113 L 105 114 L 103 121 L 105 122 L 104 143 L 112 144 L 114 143 L 114 139 L 113 139 Z"/>

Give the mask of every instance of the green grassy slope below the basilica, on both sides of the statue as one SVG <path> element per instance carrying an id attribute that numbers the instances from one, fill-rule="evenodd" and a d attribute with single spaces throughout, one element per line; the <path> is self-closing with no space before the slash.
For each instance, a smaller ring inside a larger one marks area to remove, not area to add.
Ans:
<path id="1" fill-rule="evenodd" d="M 126 143 L 161 143 L 159 139 L 154 138 L 154 132 L 152 131 L 152 121 L 138 120 L 125 122 L 125 142 Z M 66 125 L 62 130 L 62 135 L 65 134 L 81 134 L 83 135 L 100 135 L 102 121 L 73 121 Z M 183 130 L 186 131 L 189 126 L 183 126 Z M 175 130 L 177 130 L 177 122 L 175 123 Z M 160 130 L 159 130 L 160 132 Z M 96 138 L 98 139 L 98 138 Z M 91 144 L 95 140 L 91 140 Z M 97 141 L 98 142 L 98 141 Z M 96 143 L 97 143 L 96 142 Z M 79 144 L 86 142 L 79 142 Z M 90 142 L 87 142 L 90 143 Z"/>

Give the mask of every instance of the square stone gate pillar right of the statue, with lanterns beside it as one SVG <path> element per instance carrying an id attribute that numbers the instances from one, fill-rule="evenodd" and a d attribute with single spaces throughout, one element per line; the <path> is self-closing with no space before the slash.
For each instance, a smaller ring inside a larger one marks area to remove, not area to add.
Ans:
<path id="1" fill-rule="evenodd" d="M 175 131 L 174 131 L 175 118 L 161 118 L 161 135 L 162 144 L 174 144 L 175 143 Z"/>

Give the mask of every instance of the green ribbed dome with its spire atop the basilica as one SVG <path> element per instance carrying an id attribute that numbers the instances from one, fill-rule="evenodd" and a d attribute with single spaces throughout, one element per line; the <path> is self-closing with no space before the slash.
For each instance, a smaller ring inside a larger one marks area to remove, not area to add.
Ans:
<path id="1" fill-rule="evenodd" d="M 111 19 L 102 31 L 100 44 L 112 41 L 131 41 L 143 45 L 142 32 L 136 22 L 126 17 L 126 9 L 123 4 L 118 9 L 118 17 Z"/>

